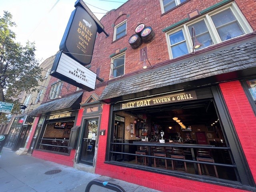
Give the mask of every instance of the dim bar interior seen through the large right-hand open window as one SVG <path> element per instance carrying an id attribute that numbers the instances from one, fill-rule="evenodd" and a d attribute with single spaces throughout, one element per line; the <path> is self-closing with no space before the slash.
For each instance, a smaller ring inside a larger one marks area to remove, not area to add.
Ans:
<path id="1" fill-rule="evenodd" d="M 213 100 L 133 108 L 116 115 L 123 116 L 125 122 L 122 126 L 115 121 L 112 144 L 120 143 L 123 128 L 128 145 L 114 145 L 112 160 L 165 172 L 237 180 Z"/>

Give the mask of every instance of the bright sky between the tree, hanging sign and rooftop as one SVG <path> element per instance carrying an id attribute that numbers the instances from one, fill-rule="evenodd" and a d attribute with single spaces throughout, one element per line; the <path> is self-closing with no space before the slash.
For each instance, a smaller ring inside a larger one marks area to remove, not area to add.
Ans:
<path id="1" fill-rule="evenodd" d="M 83 0 L 100 20 L 107 11 L 116 9 L 127 0 Z M 35 42 L 36 58 L 43 62 L 59 50 L 76 0 L 0 0 L 0 17 L 4 11 L 12 14 L 16 27 L 16 42 L 25 46 Z M 103 13 L 103 14 L 101 14 Z"/>

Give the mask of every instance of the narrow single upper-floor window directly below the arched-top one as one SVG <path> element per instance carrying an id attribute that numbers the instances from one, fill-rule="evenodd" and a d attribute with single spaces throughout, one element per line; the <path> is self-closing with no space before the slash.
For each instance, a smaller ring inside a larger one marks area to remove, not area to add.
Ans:
<path id="1" fill-rule="evenodd" d="M 113 64 L 110 65 L 110 74 L 112 74 L 114 78 L 124 75 L 124 59 L 125 54 L 112 58 L 111 61 Z"/>

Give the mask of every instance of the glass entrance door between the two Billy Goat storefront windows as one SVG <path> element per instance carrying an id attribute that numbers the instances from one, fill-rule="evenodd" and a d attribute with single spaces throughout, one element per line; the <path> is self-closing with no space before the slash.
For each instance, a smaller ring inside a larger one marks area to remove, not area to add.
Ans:
<path id="1" fill-rule="evenodd" d="M 98 119 L 86 120 L 84 135 L 81 145 L 80 163 L 93 165 L 98 132 Z"/>

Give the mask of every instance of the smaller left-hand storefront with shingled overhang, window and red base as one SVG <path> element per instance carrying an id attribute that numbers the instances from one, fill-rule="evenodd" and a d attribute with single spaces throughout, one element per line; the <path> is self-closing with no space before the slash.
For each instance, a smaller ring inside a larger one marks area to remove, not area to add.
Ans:
<path id="1" fill-rule="evenodd" d="M 29 114 L 37 116 L 37 124 L 28 142 L 32 156 L 73 166 L 81 98 L 82 92 L 78 92 L 42 104 Z"/>

